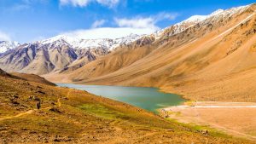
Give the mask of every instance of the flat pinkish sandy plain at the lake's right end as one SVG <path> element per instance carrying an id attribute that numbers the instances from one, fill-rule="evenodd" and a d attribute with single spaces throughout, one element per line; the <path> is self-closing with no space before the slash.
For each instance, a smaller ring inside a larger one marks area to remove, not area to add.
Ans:
<path id="1" fill-rule="evenodd" d="M 256 141 L 256 103 L 253 102 L 187 102 L 160 112 L 182 123 L 207 125 Z"/>

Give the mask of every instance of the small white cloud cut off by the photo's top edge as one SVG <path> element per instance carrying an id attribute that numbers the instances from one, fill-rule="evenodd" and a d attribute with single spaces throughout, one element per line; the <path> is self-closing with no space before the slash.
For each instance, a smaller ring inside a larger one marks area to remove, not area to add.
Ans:
<path id="1" fill-rule="evenodd" d="M 119 3 L 119 0 L 59 0 L 61 5 L 72 4 L 74 7 L 86 7 L 89 3 L 99 3 L 109 8 Z"/>

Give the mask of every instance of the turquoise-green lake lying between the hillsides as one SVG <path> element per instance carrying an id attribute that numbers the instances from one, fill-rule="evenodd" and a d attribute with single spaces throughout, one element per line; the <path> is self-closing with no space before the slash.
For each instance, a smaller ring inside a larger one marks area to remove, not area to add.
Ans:
<path id="1" fill-rule="evenodd" d="M 122 101 L 151 112 L 157 112 L 156 110 L 162 107 L 177 106 L 184 101 L 179 95 L 162 93 L 156 88 L 80 84 L 57 85 L 72 89 L 86 90 L 91 94 L 108 97 L 115 101 Z"/>

